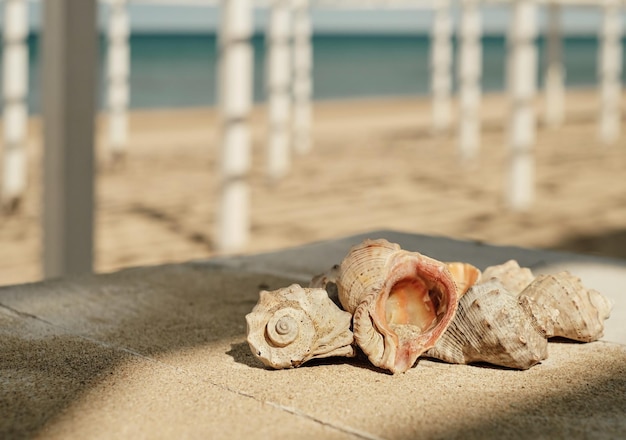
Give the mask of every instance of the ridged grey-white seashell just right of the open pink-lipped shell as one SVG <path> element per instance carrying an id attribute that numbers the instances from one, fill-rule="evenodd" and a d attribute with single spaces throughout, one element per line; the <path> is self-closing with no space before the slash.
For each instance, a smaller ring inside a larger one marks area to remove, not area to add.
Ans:
<path id="1" fill-rule="evenodd" d="M 548 357 L 548 341 L 515 295 L 492 279 L 463 295 L 452 324 L 426 356 L 526 370 Z"/>

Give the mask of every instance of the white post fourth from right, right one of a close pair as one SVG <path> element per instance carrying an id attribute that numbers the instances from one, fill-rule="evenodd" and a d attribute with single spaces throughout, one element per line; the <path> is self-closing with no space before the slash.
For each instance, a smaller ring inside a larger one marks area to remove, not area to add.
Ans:
<path id="1" fill-rule="evenodd" d="M 459 150 L 463 161 L 471 161 L 480 146 L 481 20 L 478 0 L 462 0 L 461 5 Z"/>

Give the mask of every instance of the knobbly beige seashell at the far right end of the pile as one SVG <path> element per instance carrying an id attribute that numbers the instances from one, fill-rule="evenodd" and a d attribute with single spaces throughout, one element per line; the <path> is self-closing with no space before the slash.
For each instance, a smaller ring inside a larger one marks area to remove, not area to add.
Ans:
<path id="1" fill-rule="evenodd" d="M 567 271 L 539 275 L 519 295 L 548 337 L 581 342 L 600 339 L 612 304 L 600 292 L 587 289 Z"/>

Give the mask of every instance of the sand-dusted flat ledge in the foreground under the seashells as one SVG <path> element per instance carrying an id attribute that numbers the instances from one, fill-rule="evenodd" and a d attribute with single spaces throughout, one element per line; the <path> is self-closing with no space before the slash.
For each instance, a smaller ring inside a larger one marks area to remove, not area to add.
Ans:
<path id="1" fill-rule="evenodd" d="M 579 256 L 367 235 L 481 266 L 598 273 Z M 551 343 L 523 372 L 420 360 L 391 376 L 361 357 L 264 369 L 245 342 L 258 290 L 308 279 L 361 238 L 0 289 L 0 438 L 626 436 L 626 348 L 608 342 Z"/>

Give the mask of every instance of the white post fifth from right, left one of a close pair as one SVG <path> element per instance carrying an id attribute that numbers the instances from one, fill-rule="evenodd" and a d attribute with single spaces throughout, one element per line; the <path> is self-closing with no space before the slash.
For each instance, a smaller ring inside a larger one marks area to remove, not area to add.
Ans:
<path id="1" fill-rule="evenodd" d="M 433 131 L 444 133 L 450 129 L 451 120 L 452 21 L 449 0 L 435 2 L 430 55 Z"/>

